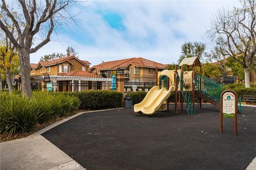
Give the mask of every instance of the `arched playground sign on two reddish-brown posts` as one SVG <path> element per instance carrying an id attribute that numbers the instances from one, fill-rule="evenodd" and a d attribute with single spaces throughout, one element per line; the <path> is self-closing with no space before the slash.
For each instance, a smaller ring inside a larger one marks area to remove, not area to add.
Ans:
<path id="1" fill-rule="evenodd" d="M 235 118 L 235 135 L 237 135 L 237 94 L 233 90 L 225 90 L 220 97 L 220 133 L 222 133 L 223 117 Z"/>

